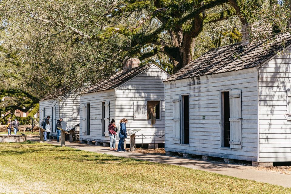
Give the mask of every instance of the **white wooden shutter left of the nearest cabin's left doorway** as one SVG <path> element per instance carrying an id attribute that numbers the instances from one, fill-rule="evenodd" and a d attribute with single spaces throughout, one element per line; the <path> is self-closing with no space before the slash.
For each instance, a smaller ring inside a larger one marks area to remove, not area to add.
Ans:
<path id="1" fill-rule="evenodd" d="M 180 96 L 173 96 L 173 142 L 180 143 Z"/>

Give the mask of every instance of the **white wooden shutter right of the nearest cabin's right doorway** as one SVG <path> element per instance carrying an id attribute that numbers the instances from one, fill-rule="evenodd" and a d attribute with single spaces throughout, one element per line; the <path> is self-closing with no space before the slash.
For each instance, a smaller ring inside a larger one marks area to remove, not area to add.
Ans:
<path id="1" fill-rule="evenodd" d="M 242 91 L 229 91 L 230 148 L 242 149 Z"/>

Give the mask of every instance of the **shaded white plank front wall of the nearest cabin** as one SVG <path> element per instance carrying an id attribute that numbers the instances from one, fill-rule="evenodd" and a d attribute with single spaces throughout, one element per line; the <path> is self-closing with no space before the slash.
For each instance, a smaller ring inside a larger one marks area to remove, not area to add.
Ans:
<path id="1" fill-rule="evenodd" d="M 242 149 L 221 148 L 220 90 L 241 90 Z M 173 96 L 189 94 L 189 144 L 173 143 Z M 257 161 L 258 95 L 255 68 L 165 82 L 166 151 Z M 205 119 L 202 119 L 205 116 Z"/>

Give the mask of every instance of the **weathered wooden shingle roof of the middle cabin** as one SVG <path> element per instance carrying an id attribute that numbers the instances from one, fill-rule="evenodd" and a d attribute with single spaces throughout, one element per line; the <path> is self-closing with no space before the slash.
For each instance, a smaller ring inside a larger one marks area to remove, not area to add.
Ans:
<path id="1" fill-rule="evenodd" d="M 121 70 L 116 74 L 112 75 L 109 79 L 102 79 L 96 84 L 90 86 L 87 90 L 85 90 L 84 93 L 114 89 L 122 85 L 123 83 L 127 82 L 128 80 L 134 78 L 136 75 L 139 75 L 140 73 L 148 69 L 151 65 L 152 64 L 135 67 L 128 70 L 127 72 L 123 72 L 123 70 Z"/>

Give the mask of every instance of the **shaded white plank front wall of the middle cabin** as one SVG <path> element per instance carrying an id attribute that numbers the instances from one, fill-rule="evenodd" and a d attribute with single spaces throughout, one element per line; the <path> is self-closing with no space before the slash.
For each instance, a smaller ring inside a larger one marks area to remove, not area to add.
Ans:
<path id="1" fill-rule="evenodd" d="M 102 102 L 109 101 L 109 122 L 115 118 L 115 90 L 92 92 L 80 96 L 80 140 L 101 140 L 109 142 L 108 124 L 105 123 L 105 136 L 102 136 Z M 83 104 L 90 104 L 90 135 L 82 133 Z"/>

